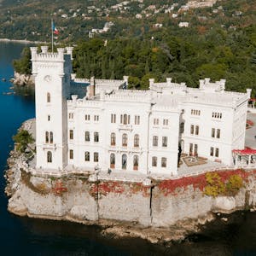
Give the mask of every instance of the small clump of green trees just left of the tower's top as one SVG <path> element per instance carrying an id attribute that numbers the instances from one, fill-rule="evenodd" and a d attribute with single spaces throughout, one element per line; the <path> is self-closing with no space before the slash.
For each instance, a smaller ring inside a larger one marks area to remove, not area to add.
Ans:
<path id="1" fill-rule="evenodd" d="M 30 74 L 32 72 L 30 59 L 31 51 L 29 48 L 26 47 L 22 50 L 20 59 L 13 61 L 15 71 L 18 73 Z"/>

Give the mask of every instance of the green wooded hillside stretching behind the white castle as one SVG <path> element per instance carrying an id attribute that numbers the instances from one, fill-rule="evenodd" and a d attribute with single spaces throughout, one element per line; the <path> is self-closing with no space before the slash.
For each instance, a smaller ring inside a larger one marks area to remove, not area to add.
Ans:
<path id="1" fill-rule="evenodd" d="M 220 5 L 223 9 L 217 14 L 210 8 L 191 9 L 177 19 L 165 14 L 163 0 L 144 0 L 143 7 L 130 2 L 129 8 L 121 12 L 111 8 L 116 3 L 45 0 L 43 7 L 38 1 L 3 0 L 0 32 L 3 38 L 50 42 L 49 14 L 56 14 L 60 34 L 55 43 L 77 45 L 73 66 L 78 78 L 94 75 L 99 79 L 122 79 L 128 75 L 131 88 L 147 89 L 148 74 L 159 82 L 172 77 L 172 81 L 186 82 L 191 87 L 198 87 L 199 79 L 209 77 L 213 81 L 226 79 L 227 90 L 245 92 L 252 88 L 252 96 L 256 96 L 256 10 L 251 8 L 252 0 L 218 1 L 214 9 Z M 178 1 L 174 13 L 183 3 L 186 1 Z M 147 10 L 149 5 L 160 12 Z M 89 6 L 96 8 L 89 12 Z M 143 15 L 134 19 L 145 10 L 150 18 Z M 236 15 L 237 10 L 242 14 Z M 62 14 L 67 14 L 67 19 L 62 19 Z M 188 21 L 189 27 L 179 28 L 180 20 Z M 106 21 L 113 21 L 114 26 L 89 39 L 90 29 L 102 28 Z M 163 26 L 156 29 L 155 23 Z M 20 73 L 29 73 L 31 68 L 30 53 L 25 51 L 19 61 L 14 61 Z"/>

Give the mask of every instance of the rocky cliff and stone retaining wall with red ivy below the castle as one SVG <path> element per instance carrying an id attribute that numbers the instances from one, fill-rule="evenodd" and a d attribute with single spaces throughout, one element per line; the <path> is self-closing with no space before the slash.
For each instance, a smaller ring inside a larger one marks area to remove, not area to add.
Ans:
<path id="1" fill-rule="evenodd" d="M 90 173 L 32 175 L 23 169 L 24 160 L 25 155 L 11 152 L 6 172 L 9 212 L 99 224 L 103 235 L 139 236 L 151 242 L 177 241 L 199 231 L 200 224 L 212 220 L 216 212 L 229 213 L 256 205 L 253 170 L 219 172 L 223 179 L 236 173 L 244 185 L 236 195 L 212 197 L 205 193 L 205 174 L 152 180 L 145 185 L 92 179 Z"/>

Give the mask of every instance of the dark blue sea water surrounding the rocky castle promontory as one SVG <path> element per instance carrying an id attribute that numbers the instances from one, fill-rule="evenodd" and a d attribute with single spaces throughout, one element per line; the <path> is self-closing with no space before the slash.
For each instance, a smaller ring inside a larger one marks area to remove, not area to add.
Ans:
<path id="1" fill-rule="evenodd" d="M 7 211 L 4 171 L 12 136 L 21 123 L 35 116 L 34 96 L 15 95 L 9 79 L 12 61 L 25 45 L 0 42 L 0 255 L 256 255 L 256 214 L 236 212 L 228 222 L 219 216 L 201 234 L 172 246 L 152 245 L 142 239 L 102 237 L 100 228 L 63 221 L 20 218 Z M 6 79 L 3 81 L 2 79 Z"/>

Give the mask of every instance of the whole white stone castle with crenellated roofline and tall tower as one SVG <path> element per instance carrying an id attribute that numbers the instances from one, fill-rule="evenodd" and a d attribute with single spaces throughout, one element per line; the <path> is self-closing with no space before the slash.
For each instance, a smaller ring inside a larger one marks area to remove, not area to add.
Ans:
<path id="1" fill-rule="evenodd" d="M 177 175 L 178 154 L 232 165 L 232 150 L 244 148 L 249 89 L 225 91 L 225 80 L 204 79 L 195 89 L 149 79 L 149 90 L 127 90 L 128 77 L 75 79 L 72 47 L 41 49 L 31 48 L 41 171 L 171 176 Z"/>

